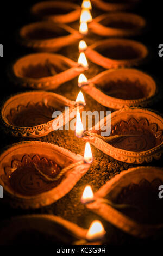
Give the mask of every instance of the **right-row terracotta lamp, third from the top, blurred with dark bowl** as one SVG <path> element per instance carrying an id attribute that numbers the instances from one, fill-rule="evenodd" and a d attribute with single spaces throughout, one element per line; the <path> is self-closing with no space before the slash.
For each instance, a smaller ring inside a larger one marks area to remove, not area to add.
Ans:
<path id="1" fill-rule="evenodd" d="M 105 69 L 137 66 L 145 62 L 148 50 L 140 42 L 128 39 L 105 39 L 88 46 L 85 55 Z"/>

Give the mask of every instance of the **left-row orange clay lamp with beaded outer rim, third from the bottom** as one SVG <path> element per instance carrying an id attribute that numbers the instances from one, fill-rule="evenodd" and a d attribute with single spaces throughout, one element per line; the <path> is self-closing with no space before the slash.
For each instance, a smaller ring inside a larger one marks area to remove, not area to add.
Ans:
<path id="1" fill-rule="evenodd" d="M 66 99 L 45 91 L 20 93 L 10 97 L 1 108 L 1 120 L 5 132 L 19 137 L 42 137 L 64 126 L 73 119 L 71 113 L 82 111 L 85 102 Z M 65 108 L 68 107 L 68 108 Z M 62 115 L 53 116 L 55 111 Z"/>

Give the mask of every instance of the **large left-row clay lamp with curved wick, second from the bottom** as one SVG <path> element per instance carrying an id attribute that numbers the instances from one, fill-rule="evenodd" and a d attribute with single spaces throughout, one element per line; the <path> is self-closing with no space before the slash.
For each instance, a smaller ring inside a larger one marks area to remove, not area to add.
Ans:
<path id="1" fill-rule="evenodd" d="M 0 184 L 14 208 L 40 208 L 64 197 L 87 172 L 90 162 L 51 143 L 12 145 L 0 156 Z"/>

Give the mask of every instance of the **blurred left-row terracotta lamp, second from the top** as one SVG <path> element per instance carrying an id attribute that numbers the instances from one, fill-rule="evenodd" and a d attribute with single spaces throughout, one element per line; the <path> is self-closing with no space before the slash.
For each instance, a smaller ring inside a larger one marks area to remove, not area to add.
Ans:
<path id="1" fill-rule="evenodd" d="M 57 52 L 60 48 L 74 44 L 83 35 L 64 24 L 52 21 L 31 23 L 20 29 L 20 44 L 35 51 Z"/>

